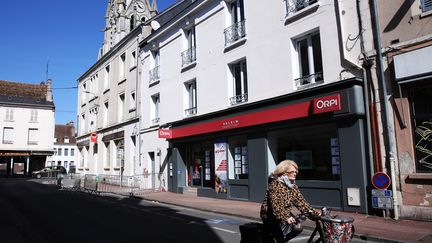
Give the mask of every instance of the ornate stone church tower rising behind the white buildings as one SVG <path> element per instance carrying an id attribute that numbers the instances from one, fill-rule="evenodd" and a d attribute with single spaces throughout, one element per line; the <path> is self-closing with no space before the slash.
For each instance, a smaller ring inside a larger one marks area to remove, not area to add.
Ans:
<path id="1" fill-rule="evenodd" d="M 104 42 L 99 58 L 129 32 L 157 14 L 156 0 L 108 0 L 105 14 Z"/>

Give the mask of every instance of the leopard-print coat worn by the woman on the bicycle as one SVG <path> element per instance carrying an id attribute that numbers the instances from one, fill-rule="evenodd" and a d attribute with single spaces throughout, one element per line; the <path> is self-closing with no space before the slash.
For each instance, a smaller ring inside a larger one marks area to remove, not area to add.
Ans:
<path id="1" fill-rule="evenodd" d="M 302 213 L 311 211 L 313 215 L 319 215 L 319 212 L 315 211 L 303 197 L 297 185 L 289 188 L 282 181 L 273 179 L 269 183 L 267 194 L 261 204 L 261 219 L 263 221 L 276 219 L 287 224 L 288 218 L 291 217 L 292 206 Z"/>

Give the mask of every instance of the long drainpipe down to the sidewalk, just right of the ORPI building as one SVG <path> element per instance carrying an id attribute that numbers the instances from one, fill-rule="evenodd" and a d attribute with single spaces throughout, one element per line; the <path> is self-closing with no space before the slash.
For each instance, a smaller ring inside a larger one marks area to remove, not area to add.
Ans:
<path id="1" fill-rule="evenodd" d="M 377 4 L 376 0 L 371 0 L 371 17 L 372 17 L 372 30 L 373 34 L 375 36 L 374 38 L 374 44 L 375 44 L 375 51 L 376 51 L 376 58 L 377 58 L 377 66 L 379 68 L 378 70 L 378 81 L 381 83 L 382 91 L 381 95 L 383 97 L 383 110 L 385 115 L 385 126 L 387 128 L 386 133 L 386 156 L 387 160 L 390 164 L 390 175 L 391 175 L 391 187 L 393 191 L 393 212 L 394 212 L 394 219 L 399 219 L 399 203 L 398 203 L 398 195 L 397 195 L 397 189 L 396 189 L 396 173 L 395 173 L 395 158 L 394 158 L 394 152 L 393 149 L 395 147 L 395 141 L 393 138 L 392 133 L 392 126 L 390 124 L 390 114 L 388 110 L 388 102 L 387 102 L 387 86 L 385 82 L 384 77 L 384 69 L 383 69 L 383 60 L 382 60 L 382 53 L 381 53 L 381 35 L 379 31 L 379 22 L 378 22 L 378 12 L 377 12 Z M 383 124 L 384 125 L 384 124 Z"/>

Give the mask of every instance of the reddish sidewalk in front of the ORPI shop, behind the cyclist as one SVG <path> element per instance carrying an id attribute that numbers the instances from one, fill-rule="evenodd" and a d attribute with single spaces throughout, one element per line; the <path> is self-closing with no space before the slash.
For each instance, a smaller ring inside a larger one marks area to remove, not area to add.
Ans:
<path id="1" fill-rule="evenodd" d="M 194 208 L 209 212 L 249 218 L 261 221 L 260 204 L 254 202 L 221 200 L 195 197 L 172 192 L 155 192 L 136 195 L 148 201 Z M 332 211 L 332 214 L 354 218 L 355 237 L 375 242 L 432 242 L 432 222 L 384 219 L 357 213 Z M 313 222 L 307 220 L 306 227 L 313 228 Z"/>

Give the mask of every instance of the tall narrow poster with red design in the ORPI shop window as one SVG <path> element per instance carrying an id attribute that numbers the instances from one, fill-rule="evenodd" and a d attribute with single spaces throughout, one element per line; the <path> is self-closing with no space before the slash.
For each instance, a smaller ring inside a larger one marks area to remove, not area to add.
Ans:
<path id="1" fill-rule="evenodd" d="M 216 193 L 227 193 L 227 144 L 215 143 L 215 190 Z"/>

